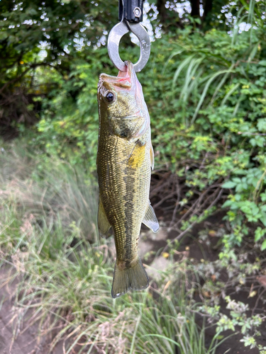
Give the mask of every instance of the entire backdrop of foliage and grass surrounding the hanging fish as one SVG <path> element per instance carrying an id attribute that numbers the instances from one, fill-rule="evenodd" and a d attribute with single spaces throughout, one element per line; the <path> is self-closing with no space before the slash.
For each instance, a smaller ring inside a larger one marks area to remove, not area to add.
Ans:
<path id="1" fill-rule="evenodd" d="M 62 339 L 64 353 L 218 354 L 232 333 L 265 353 L 265 1 L 215 3 L 201 13 L 191 1 L 182 16 L 174 1 L 147 7 L 160 38 L 138 78 L 155 150 L 150 197 L 169 239 L 144 259 L 168 268 L 150 273 L 148 292 L 113 302 L 95 161 L 99 74 L 117 74 L 105 47 L 117 4 L 0 2 L 0 254 L 5 281 L 20 280 L 14 338 L 31 309 L 28 324 L 58 328 L 50 348 Z M 128 37 L 121 57 L 138 55 Z M 193 238 L 212 259 L 188 253 Z"/>

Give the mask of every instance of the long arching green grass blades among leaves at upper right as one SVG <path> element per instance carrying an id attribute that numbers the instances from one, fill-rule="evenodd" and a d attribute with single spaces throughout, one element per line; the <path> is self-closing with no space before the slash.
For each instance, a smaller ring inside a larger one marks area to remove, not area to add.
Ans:
<path id="1" fill-rule="evenodd" d="M 236 11 L 237 9 L 237 11 Z M 249 65 L 254 59 L 260 57 L 260 44 L 265 41 L 265 20 L 262 16 L 262 10 L 265 10 L 263 1 L 245 1 L 232 3 L 229 13 L 235 13 L 232 16 L 231 23 L 227 23 L 228 38 L 216 38 L 215 45 L 206 47 L 193 47 L 179 45 L 178 50 L 173 52 L 167 62 L 163 72 L 170 63 L 175 64 L 174 59 L 179 59 L 182 53 L 186 52 L 172 78 L 172 99 L 179 99 L 182 102 L 184 112 L 184 125 L 191 127 L 202 108 L 218 108 L 226 104 L 228 98 L 238 89 L 239 83 L 235 84 L 235 77 L 246 79 L 248 77 Z M 248 33 L 240 34 L 241 24 L 250 25 Z M 214 36 L 216 29 L 213 29 Z M 208 36 L 210 33 L 205 34 Z M 211 37 L 210 37 L 211 39 Z M 223 45 L 219 45 L 222 42 Z M 231 45 L 228 45 L 228 43 Z M 222 48 L 225 47 L 226 50 Z M 238 50 L 235 50 L 238 47 Z M 242 50 L 239 50 L 241 49 Z M 259 53 L 259 54 L 258 54 Z M 240 65 L 244 62 L 246 65 Z M 258 60 L 257 60 L 258 62 Z M 212 70 L 210 70 L 210 67 Z M 239 69 L 241 67 L 241 70 Z M 181 76 L 181 80 L 180 80 Z M 179 80 L 178 80 L 179 79 Z M 180 81 L 180 82 L 179 82 Z M 225 84 L 231 82 L 235 84 L 226 94 L 223 100 L 219 100 L 219 91 Z M 215 89 L 214 89 L 215 88 Z M 179 93 L 179 97 L 177 97 Z M 169 93 L 167 93 L 169 94 Z M 243 94 L 237 103 L 233 116 L 238 112 L 239 104 L 245 100 Z M 187 117 L 189 105 L 194 105 L 194 114 L 192 118 Z"/>

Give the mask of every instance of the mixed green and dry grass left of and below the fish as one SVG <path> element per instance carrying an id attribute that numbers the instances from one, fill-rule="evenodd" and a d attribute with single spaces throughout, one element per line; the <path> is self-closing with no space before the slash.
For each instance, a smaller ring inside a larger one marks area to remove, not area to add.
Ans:
<path id="1" fill-rule="evenodd" d="M 113 240 L 98 237 L 96 183 L 84 170 L 21 146 L 0 155 L 0 168 L 1 266 L 5 282 L 18 280 L 13 338 L 35 324 L 40 337 L 53 333 L 50 352 L 62 341 L 65 354 L 216 353 L 216 336 L 206 348 L 196 324 L 187 261 L 145 292 L 111 298 Z"/>

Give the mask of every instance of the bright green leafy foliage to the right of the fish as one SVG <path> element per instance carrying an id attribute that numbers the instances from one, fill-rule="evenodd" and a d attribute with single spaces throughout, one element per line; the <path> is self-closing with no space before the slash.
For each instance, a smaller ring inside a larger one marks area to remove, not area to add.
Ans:
<path id="1" fill-rule="evenodd" d="M 164 69 L 169 76 L 161 81 L 162 110 L 173 118 L 161 119 L 160 125 L 157 120 L 153 140 L 157 156 L 165 154 L 160 161 L 168 160 L 168 168 L 185 176 L 192 193 L 217 184 L 231 190 L 223 203 L 230 209 L 226 219 L 232 227 L 231 235 L 223 236 L 223 254 L 231 257 L 233 246 L 248 234 L 247 222 L 259 225 L 256 241 L 263 241 L 266 227 L 266 23 L 257 18 L 263 1 L 250 3 L 247 13 L 243 4 L 237 24 L 248 19 L 257 28 L 240 34 L 233 30 L 232 37 L 215 29 L 204 37 L 182 31 L 173 41 Z M 182 203 L 191 207 L 188 200 Z M 185 227 L 189 222 L 194 217 Z"/>

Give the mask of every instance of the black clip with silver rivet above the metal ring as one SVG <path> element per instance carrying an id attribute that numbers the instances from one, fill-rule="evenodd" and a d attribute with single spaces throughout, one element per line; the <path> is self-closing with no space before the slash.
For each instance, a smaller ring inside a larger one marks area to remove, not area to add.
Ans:
<path id="1" fill-rule="evenodd" d="M 142 22 L 143 0 L 119 0 L 119 21 Z"/>

